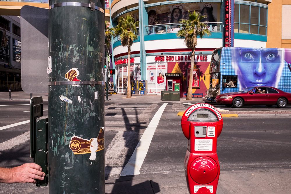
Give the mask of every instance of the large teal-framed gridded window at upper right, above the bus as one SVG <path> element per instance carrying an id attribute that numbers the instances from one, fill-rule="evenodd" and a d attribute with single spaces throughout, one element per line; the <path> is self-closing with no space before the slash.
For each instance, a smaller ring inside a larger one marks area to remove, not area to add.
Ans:
<path id="1" fill-rule="evenodd" d="M 235 3 L 234 32 L 267 35 L 267 8 Z"/>

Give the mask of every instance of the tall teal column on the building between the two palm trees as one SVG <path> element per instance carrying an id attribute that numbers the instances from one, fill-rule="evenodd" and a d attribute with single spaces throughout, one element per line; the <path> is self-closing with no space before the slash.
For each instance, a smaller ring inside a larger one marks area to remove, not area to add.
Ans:
<path id="1" fill-rule="evenodd" d="M 139 0 L 139 44 L 141 58 L 141 79 L 146 79 L 146 56 L 145 56 L 145 26 L 148 25 L 148 9 L 145 8 L 145 2 Z"/>

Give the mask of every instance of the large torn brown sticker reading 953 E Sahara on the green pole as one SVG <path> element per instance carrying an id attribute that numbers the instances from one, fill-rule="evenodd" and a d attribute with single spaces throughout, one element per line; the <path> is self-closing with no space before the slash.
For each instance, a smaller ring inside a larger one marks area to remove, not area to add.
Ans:
<path id="1" fill-rule="evenodd" d="M 90 160 L 96 159 L 96 152 L 104 149 L 104 127 L 100 128 L 97 138 L 83 139 L 78 136 L 72 136 L 70 141 L 70 149 L 75 154 L 88 154 Z"/>

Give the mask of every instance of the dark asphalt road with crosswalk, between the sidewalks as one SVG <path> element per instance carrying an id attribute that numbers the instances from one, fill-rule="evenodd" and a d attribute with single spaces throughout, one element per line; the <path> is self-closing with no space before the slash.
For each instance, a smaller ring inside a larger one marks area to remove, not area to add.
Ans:
<path id="1" fill-rule="evenodd" d="M 112 98 L 113 99 L 113 98 Z M 47 115 L 44 101 L 44 115 Z M 28 101 L 0 101 L 0 166 L 12 167 L 25 162 L 32 162 L 29 157 L 29 123 L 7 129 L 1 127 L 29 120 Z M 164 104 L 162 101 L 152 103 L 105 102 L 105 176 L 106 179 L 118 179 L 126 168 L 136 145 L 154 118 L 157 110 Z M 13 106 L 10 106 L 13 105 Z M 154 173 L 184 173 L 184 157 L 187 139 L 181 130 L 180 111 L 190 105 L 182 102 L 167 103 L 158 122 L 150 146 L 140 168 L 141 175 Z M 223 105 L 217 105 L 222 109 Z M 239 110 L 262 111 L 265 109 L 281 110 L 275 106 L 246 107 Z M 284 110 L 290 110 L 291 107 Z M 224 125 L 218 138 L 217 154 L 221 171 L 237 170 L 291 169 L 291 133 L 289 117 L 260 117 L 250 114 L 249 117 L 223 118 Z M 280 174 L 278 175 L 280 176 Z M 284 176 L 282 174 L 282 176 Z M 290 177 L 289 177 L 290 178 Z M 184 180 L 182 180 L 184 182 Z M 175 184 L 175 183 L 170 183 Z M 245 183 L 243 183 L 245 184 Z M 285 190 L 290 191 L 286 183 Z M 34 188 L 33 184 L 1 184 L 0 193 L 13 193 Z M 120 188 L 107 184 L 107 193 L 119 193 Z M 181 193 L 187 193 L 187 188 Z M 221 193 L 227 193 L 221 191 Z M 235 193 L 235 192 L 233 192 Z M 272 193 L 272 192 L 271 192 Z"/>

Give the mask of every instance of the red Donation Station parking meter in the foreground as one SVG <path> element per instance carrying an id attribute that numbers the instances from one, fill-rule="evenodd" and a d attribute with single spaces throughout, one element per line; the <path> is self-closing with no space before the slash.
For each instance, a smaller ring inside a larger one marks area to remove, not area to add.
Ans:
<path id="1" fill-rule="evenodd" d="M 212 105 L 196 104 L 185 111 L 181 125 L 188 139 L 184 170 L 189 193 L 216 193 L 220 174 L 217 137 L 223 126 L 220 112 Z"/>

